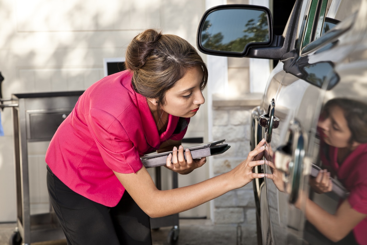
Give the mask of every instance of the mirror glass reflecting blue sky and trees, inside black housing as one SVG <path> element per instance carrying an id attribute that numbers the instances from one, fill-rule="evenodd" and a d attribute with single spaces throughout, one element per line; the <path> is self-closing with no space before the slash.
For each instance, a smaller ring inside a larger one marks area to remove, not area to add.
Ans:
<path id="1" fill-rule="evenodd" d="M 242 53 L 249 43 L 268 43 L 268 18 L 261 10 L 213 11 L 201 29 L 201 45 L 208 50 Z"/>

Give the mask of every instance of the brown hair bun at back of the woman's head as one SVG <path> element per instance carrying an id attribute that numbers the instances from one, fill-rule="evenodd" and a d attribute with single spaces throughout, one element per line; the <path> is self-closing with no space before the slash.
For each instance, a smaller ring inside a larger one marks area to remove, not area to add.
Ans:
<path id="1" fill-rule="evenodd" d="M 125 55 L 126 68 L 134 71 L 145 65 L 150 53 L 156 48 L 157 41 L 162 36 L 161 32 L 148 29 L 138 34 L 127 46 Z"/>

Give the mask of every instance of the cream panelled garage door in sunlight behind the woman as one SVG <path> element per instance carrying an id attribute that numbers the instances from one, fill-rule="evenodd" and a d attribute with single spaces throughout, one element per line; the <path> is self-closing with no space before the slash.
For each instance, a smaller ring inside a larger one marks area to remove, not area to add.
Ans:
<path id="1" fill-rule="evenodd" d="M 0 6 L 3 97 L 84 90 L 103 77 L 103 58 L 124 56 L 130 40 L 146 28 L 176 34 L 196 47 L 197 25 L 205 10 L 204 0 L 0 0 Z M 0 137 L 3 222 L 15 220 L 16 205 L 11 109 L 0 114 L 5 131 Z M 188 137 L 207 139 L 206 123 L 202 110 L 190 123 Z M 47 144 L 30 148 L 29 162 L 42 169 Z M 30 184 L 31 195 L 44 190 L 44 186 Z M 47 196 L 32 200 L 46 202 Z"/>

